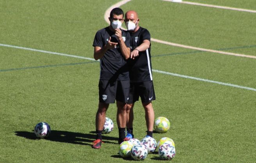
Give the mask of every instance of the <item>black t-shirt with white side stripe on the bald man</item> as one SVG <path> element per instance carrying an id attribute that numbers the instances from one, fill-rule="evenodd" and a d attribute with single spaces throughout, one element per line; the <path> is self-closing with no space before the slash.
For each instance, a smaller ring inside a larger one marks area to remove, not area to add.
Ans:
<path id="1" fill-rule="evenodd" d="M 135 33 L 130 33 L 131 51 L 142 44 L 143 40 L 150 41 L 150 33 L 147 29 L 140 27 Z M 151 44 L 150 44 L 151 46 Z M 150 46 L 147 50 L 139 52 L 135 59 L 129 59 L 130 82 L 147 82 L 152 80 Z"/>

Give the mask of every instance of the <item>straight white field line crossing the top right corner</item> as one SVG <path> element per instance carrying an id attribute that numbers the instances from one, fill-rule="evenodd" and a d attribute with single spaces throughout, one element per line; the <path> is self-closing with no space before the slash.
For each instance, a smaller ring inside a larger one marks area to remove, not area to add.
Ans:
<path id="1" fill-rule="evenodd" d="M 162 0 L 162 1 L 175 2 L 175 0 Z M 210 5 L 210 4 L 188 2 L 188 1 L 181 1 L 181 2 L 177 1 L 177 2 L 185 3 L 185 4 L 188 4 L 188 5 L 197 5 L 197 6 L 204 6 L 204 7 L 213 7 L 213 8 L 218 8 L 218 9 L 236 10 L 236 11 L 256 13 L 256 10 L 240 9 L 240 8 L 228 7 L 228 6 Z"/>

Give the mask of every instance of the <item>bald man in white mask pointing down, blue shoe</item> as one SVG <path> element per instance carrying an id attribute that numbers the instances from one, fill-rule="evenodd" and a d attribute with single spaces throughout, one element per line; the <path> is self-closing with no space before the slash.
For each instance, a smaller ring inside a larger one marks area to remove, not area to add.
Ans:
<path id="1" fill-rule="evenodd" d="M 127 103 L 127 139 L 133 138 L 133 106 L 139 97 L 145 109 L 147 135 L 153 137 L 155 113 L 151 101 L 155 100 L 155 91 L 152 79 L 150 34 L 139 26 L 137 12 L 130 10 L 125 14 L 125 25 L 130 32 L 131 55 L 130 67 L 130 95 Z"/>

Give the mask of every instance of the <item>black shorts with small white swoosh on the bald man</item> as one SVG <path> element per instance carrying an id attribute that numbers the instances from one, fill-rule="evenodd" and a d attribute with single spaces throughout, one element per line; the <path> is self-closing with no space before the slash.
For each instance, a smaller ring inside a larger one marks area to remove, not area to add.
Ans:
<path id="1" fill-rule="evenodd" d="M 139 101 L 148 103 L 156 99 L 153 81 L 130 83 L 130 94 L 128 104 Z"/>

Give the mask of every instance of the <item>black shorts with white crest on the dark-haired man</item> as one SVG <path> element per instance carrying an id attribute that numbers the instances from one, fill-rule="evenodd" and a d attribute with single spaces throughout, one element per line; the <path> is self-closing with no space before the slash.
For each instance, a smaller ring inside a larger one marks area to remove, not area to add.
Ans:
<path id="1" fill-rule="evenodd" d="M 129 99 L 130 80 L 110 82 L 100 80 L 99 82 L 99 101 L 112 104 L 116 101 L 127 103 Z"/>

